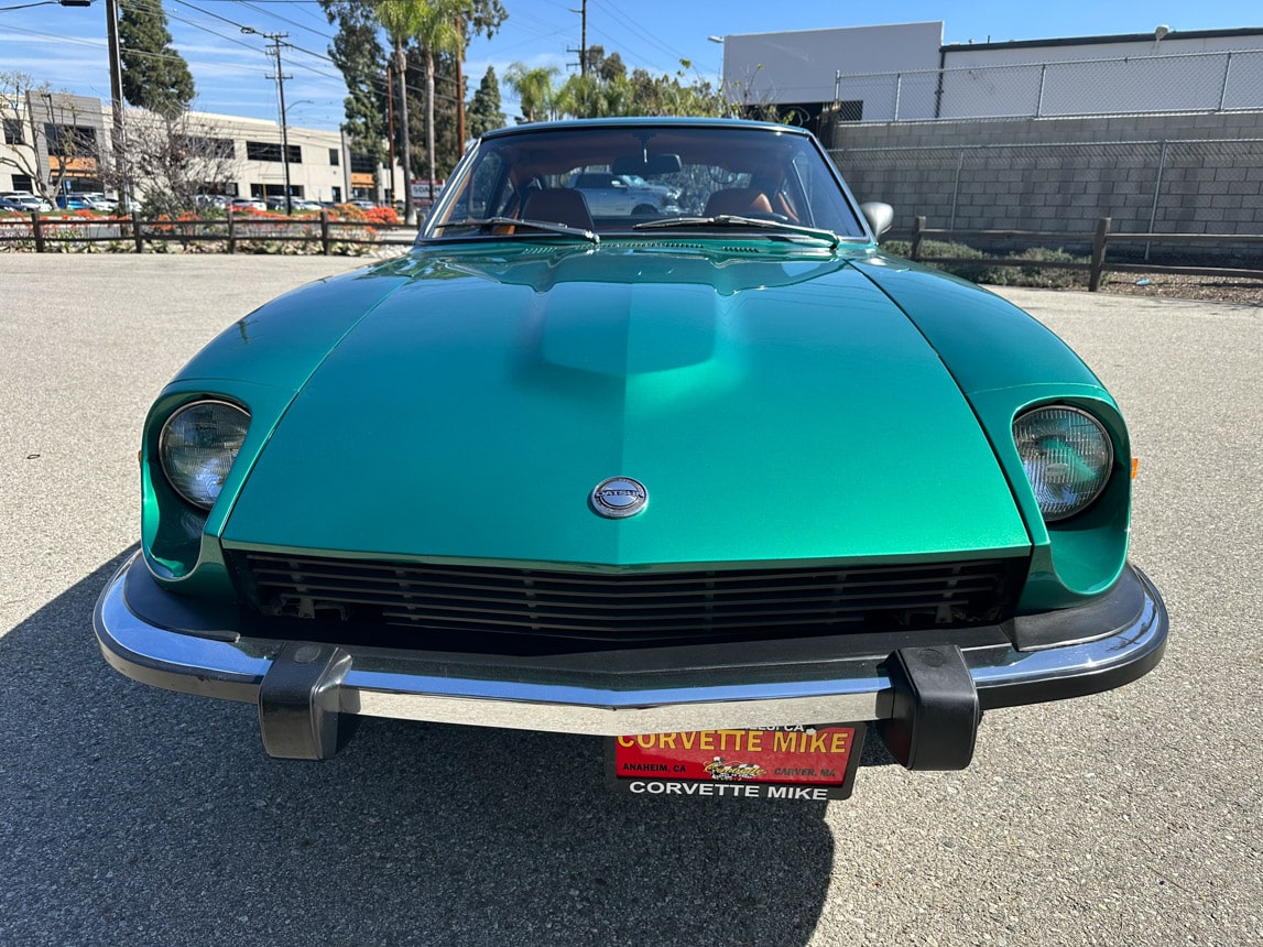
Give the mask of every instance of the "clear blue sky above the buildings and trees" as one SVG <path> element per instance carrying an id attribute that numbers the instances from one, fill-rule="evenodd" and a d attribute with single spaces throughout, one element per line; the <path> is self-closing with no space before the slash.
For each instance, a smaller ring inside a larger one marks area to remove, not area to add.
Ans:
<path id="1" fill-rule="evenodd" d="M 148 1 L 148 0 L 147 0 Z M 105 40 L 105 3 L 63 8 L 53 3 L 25 9 L 33 0 L 0 0 L 0 72 L 23 72 L 54 90 L 110 97 Z M 465 72 L 475 88 L 488 66 L 503 76 L 514 62 L 557 66 L 563 73 L 577 62 L 581 0 L 503 0 L 509 11 L 490 40 L 476 39 Z M 327 58 L 331 28 L 314 0 L 193 0 L 164 3 L 173 44 L 188 62 L 197 86 L 195 107 L 202 111 L 277 120 L 277 83 L 266 40 L 244 34 L 288 33 L 282 51 L 289 121 L 335 129 L 346 92 Z M 667 0 L 587 1 L 587 42 L 618 52 L 629 67 L 676 73 L 681 59 L 688 74 L 717 78 L 722 47 L 711 35 L 773 30 L 866 27 L 887 23 L 943 21 L 943 42 L 1149 33 L 1159 24 L 1172 30 L 1263 28 L 1258 0 L 1209 0 L 1201 4 L 1132 0 L 1061 0 L 1061 3 L 902 3 L 840 4 L 837 0 Z M 505 111 L 515 105 L 501 86 Z"/>

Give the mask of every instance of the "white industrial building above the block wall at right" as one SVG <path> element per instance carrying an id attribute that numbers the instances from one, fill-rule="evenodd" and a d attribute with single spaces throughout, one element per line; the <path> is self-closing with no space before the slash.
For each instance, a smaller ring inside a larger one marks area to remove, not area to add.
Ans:
<path id="1" fill-rule="evenodd" d="M 1004 43 L 943 23 L 724 37 L 730 97 L 802 124 L 1026 119 L 1263 107 L 1263 28 Z"/>

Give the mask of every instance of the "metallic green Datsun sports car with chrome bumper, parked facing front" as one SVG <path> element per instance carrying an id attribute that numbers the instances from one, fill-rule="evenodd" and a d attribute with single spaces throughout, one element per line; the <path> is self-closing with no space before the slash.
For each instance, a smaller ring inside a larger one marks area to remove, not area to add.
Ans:
<path id="1" fill-rule="evenodd" d="M 584 174 L 678 197 L 601 216 Z M 781 125 L 484 135 L 409 254 L 245 316 L 158 396 L 106 660 L 256 705 L 273 756 L 445 721 L 602 735 L 632 792 L 782 798 L 849 792 L 866 730 L 957 769 L 983 711 L 1140 677 L 1167 616 L 1114 400 L 883 254 L 892 216 Z"/>

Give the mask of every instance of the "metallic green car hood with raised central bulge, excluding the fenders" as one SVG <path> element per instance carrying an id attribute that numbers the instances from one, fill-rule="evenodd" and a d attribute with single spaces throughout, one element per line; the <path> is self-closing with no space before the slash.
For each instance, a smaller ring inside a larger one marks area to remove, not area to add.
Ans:
<path id="1" fill-rule="evenodd" d="M 951 374 L 846 260 L 536 246 L 392 270 L 242 458 L 224 543 L 596 568 L 1029 547 Z M 615 476 L 639 515 L 592 511 Z"/>

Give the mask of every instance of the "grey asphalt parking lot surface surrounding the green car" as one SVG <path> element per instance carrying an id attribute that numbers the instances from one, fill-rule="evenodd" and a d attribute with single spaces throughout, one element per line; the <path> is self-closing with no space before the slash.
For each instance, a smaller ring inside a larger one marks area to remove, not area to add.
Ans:
<path id="1" fill-rule="evenodd" d="M 0 944 L 1263 943 L 1263 307 L 1004 290 L 1129 420 L 1167 657 L 988 715 L 964 773 L 755 808 L 614 795 L 560 735 L 368 721 L 278 763 L 250 707 L 104 664 L 152 398 L 361 263 L 0 255 Z"/>

